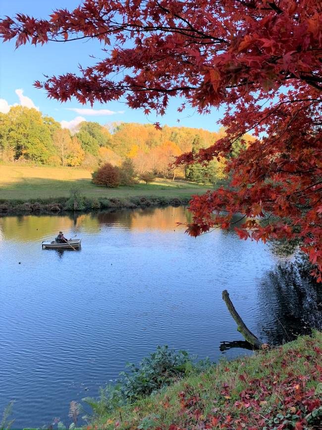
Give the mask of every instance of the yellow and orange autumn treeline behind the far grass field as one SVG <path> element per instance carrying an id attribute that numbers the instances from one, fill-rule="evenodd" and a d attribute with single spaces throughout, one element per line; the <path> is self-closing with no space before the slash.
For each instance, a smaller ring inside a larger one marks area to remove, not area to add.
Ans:
<path id="1" fill-rule="evenodd" d="M 53 118 L 36 109 L 14 106 L 0 114 L 0 160 L 52 166 L 82 166 L 96 170 L 105 163 L 120 166 L 129 158 L 138 175 L 152 172 L 162 177 L 179 175 L 199 183 L 214 183 L 224 177 L 224 160 L 209 166 L 169 168 L 183 152 L 207 148 L 224 135 L 201 128 L 169 127 L 153 124 L 95 122 L 80 123 L 71 134 Z M 251 136 L 249 136 L 251 138 Z M 240 145 L 236 143 L 234 151 Z"/>

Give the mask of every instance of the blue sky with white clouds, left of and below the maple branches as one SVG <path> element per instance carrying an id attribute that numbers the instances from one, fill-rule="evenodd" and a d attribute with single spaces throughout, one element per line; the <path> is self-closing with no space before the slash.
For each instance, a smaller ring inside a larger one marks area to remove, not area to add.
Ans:
<path id="1" fill-rule="evenodd" d="M 16 12 L 26 13 L 35 17 L 46 18 L 54 8 L 74 8 L 78 0 L 0 0 L 0 16 L 13 16 Z M 183 113 L 177 112 L 182 103 L 173 99 L 163 117 L 144 115 L 143 110 L 132 110 L 124 102 L 110 102 L 104 105 L 95 104 L 82 106 L 75 99 L 61 104 L 47 98 L 46 92 L 33 87 L 35 80 L 43 80 L 45 75 L 77 72 L 78 64 L 83 66 L 95 62 L 90 55 L 103 58 L 101 45 L 95 41 L 75 41 L 67 43 L 49 43 L 41 46 L 26 45 L 15 50 L 14 41 L 0 44 L 0 111 L 8 106 L 23 104 L 35 106 L 44 114 L 54 117 L 56 121 L 64 121 L 64 125 L 72 127 L 73 123 L 85 119 L 105 124 L 114 121 L 182 125 L 200 127 L 208 130 L 219 128 L 216 121 L 222 113 L 216 110 L 210 115 L 199 115 L 187 108 Z M 22 90 L 22 91 L 21 91 Z M 85 110 L 84 110 L 85 109 Z M 110 112 L 112 112 L 112 114 Z M 177 119 L 180 120 L 177 123 Z"/>

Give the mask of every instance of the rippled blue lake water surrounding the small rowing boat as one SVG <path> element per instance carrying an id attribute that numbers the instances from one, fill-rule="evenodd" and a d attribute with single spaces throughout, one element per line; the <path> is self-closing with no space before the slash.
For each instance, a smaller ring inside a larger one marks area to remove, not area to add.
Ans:
<path id="1" fill-rule="evenodd" d="M 0 412 L 16 400 L 14 428 L 65 420 L 71 400 L 96 396 L 157 345 L 212 360 L 250 353 L 222 343 L 242 340 L 223 289 L 270 343 L 319 324 L 316 291 L 285 277 L 268 246 L 219 230 L 192 239 L 176 226 L 189 216 L 167 207 L 0 218 Z M 59 230 L 82 249 L 42 250 Z"/>

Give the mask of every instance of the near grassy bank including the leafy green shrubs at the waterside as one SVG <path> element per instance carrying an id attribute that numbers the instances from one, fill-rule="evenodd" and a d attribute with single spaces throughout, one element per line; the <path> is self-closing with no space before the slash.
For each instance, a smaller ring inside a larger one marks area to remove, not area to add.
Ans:
<path id="1" fill-rule="evenodd" d="M 98 399 L 83 399 L 93 413 L 86 413 L 90 424 L 83 430 L 321 429 L 321 358 L 318 331 L 218 364 L 194 364 L 184 351 L 158 347 L 139 366 L 130 365 L 129 372 L 121 372 L 116 386 L 102 388 Z M 124 396 L 135 400 L 124 406 L 120 401 Z M 14 421 L 10 422 L 12 404 L 0 419 L 0 430 L 15 429 Z M 73 401 L 68 414 L 71 425 L 65 427 L 54 419 L 42 429 L 82 430 L 78 418 L 83 412 Z"/>

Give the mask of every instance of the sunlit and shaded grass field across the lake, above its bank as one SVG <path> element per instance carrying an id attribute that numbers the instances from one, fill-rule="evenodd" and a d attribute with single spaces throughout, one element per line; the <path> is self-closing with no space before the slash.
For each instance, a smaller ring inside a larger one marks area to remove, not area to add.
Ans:
<path id="1" fill-rule="evenodd" d="M 187 198 L 209 187 L 186 181 L 157 179 L 152 184 L 106 188 L 91 182 L 91 173 L 68 167 L 31 167 L 0 165 L 0 200 L 59 199 L 68 197 L 77 185 L 85 197 L 128 198 L 136 196 Z"/>

